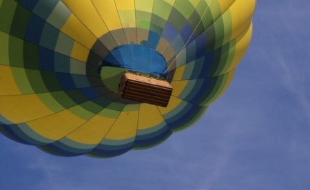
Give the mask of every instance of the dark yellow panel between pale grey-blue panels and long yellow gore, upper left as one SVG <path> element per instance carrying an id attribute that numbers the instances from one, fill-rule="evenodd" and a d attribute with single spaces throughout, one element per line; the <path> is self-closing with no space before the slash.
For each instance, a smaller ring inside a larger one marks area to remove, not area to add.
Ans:
<path id="1" fill-rule="evenodd" d="M 94 34 L 92 34 L 92 32 L 90 32 L 90 30 L 88 30 L 73 14 L 69 17 L 67 23 L 63 25 L 63 28 L 61 28 L 61 32 L 67 34 L 88 49 L 91 49 L 96 41 Z"/>

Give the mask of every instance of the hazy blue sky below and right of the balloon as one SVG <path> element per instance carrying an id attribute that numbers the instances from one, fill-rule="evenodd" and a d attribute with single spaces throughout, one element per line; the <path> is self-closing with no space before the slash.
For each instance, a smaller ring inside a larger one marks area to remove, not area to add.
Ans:
<path id="1" fill-rule="evenodd" d="M 309 7 L 258 0 L 225 95 L 158 147 L 62 158 L 0 135 L 0 189 L 310 189 Z"/>

